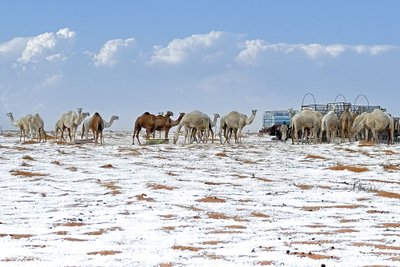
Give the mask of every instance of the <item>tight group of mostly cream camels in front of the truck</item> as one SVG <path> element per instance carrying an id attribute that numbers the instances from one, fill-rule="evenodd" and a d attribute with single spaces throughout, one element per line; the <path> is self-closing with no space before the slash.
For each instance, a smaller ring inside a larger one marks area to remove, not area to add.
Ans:
<path id="1" fill-rule="evenodd" d="M 334 113 L 334 110 L 323 116 L 320 112 L 305 109 L 297 114 L 291 114 L 290 126 L 292 144 L 298 142 L 299 137 L 302 143 L 309 142 L 309 133 L 315 144 L 321 141 L 323 134 L 325 134 L 327 142 L 331 142 L 339 130 L 341 142 L 344 142 L 345 138 L 348 138 L 350 142 L 354 137 L 368 141 L 371 133 L 371 140 L 378 143 L 378 134 L 384 131 L 387 131 L 388 134 L 388 144 L 393 144 L 394 140 L 394 119 L 380 109 L 358 115 L 352 113 L 348 108 L 340 118 Z"/>

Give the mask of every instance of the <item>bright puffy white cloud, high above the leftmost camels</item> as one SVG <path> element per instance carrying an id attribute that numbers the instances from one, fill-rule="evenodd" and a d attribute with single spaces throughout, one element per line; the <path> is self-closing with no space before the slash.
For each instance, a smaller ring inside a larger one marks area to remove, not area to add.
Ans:
<path id="1" fill-rule="evenodd" d="M 75 36 L 76 33 L 68 28 L 60 29 L 57 33 L 45 32 L 39 34 L 28 40 L 22 55 L 17 61 L 27 64 L 53 59 L 52 55 L 60 54 L 59 51 L 63 51 L 75 39 Z"/>

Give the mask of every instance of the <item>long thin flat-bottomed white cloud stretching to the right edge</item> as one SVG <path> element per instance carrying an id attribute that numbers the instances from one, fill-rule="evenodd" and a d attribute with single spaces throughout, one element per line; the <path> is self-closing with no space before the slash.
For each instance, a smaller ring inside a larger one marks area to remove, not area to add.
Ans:
<path id="1" fill-rule="evenodd" d="M 322 45 L 322 44 L 270 44 L 264 40 L 247 40 L 244 49 L 239 52 L 236 60 L 247 64 L 256 64 L 257 59 L 265 51 L 273 51 L 279 53 L 302 52 L 311 59 L 319 59 L 322 57 L 335 58 L 348 51 L 355 51 L 358 54 L 368 53 L 372 56 L 381 53 L 400 50 L 398 46 L 392 45 Z"/>

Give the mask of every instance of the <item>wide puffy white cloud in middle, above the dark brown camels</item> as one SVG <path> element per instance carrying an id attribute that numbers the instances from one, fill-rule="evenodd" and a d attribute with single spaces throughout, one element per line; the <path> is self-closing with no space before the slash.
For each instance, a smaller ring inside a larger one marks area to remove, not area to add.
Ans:
<path id="1" fill-rule="evenodd" d="M 212 55 L 220 55 L 220 52 L 230 45 L 226 44 L 230 37 L 235 37 L 235 35 L 211 31 L 206 34 L 194 34 L 183 39 L 174 39 L 166 47 L 155 46 L 150 63 L 180 64 L 189 56 L 197 53 L 202 54 L 204 59 L 211 59 Z M 224 45 L 225 47 L 223 47 Z"/>

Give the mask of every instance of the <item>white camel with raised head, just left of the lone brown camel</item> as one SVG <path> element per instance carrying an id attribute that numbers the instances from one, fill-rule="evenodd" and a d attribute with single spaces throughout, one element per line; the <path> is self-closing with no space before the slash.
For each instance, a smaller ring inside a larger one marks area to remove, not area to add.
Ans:
<path id="1" fill-rule="evenodd" d="M 82 113 L 82 108 L 78 108 L 78 113 L 69 111 L 61 115 L 61 118 L 57 121 L 55 127 L 56 138 L 57 131 L 61 130 L 61 139 L 63 139 L 63 132 L 65 129 L 67 129 L 70 142 L 74 142 L 76 129 L 78 128 L 79 124 L 81 124 L 82 121 L 89 115 L 90 114 L 88 112 Z"/>

